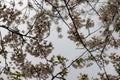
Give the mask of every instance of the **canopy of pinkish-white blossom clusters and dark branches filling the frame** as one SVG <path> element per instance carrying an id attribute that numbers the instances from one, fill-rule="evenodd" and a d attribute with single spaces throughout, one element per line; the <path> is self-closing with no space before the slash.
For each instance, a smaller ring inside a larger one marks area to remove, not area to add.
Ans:
<path id="1" fill-rule="evenodd" d="M 61 22 L 65 26 L 59 26 Z M 53 25 L 61 39 L 66 27 L 68 39 L 84 51 L 70 63 L 61 55 L 49 57 L 55 48 L 47 39 Z M 118 80 L 119 50 L 120 0 L 0 1 L 0 80 L 67 80 L 70 67 L 80 70 L 94 64 L 102 71 L 94 80 Z M 108 64 L 117 75 L 106 71 Z M 78 80 L 91 78 L 80 73 Z"/>

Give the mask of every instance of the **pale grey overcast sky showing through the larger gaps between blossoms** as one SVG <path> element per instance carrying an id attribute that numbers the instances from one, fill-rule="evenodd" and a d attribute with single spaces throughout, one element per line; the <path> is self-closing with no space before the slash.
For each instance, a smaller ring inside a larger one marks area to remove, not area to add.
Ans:
<path id="1" fill-rule="evenodd" d="M 89 16 L 89 15 L 88 15 Z M 97 16 L 92 16 L 93 20 L 96 20 L 98 17 Z M 97 20 L 96 20 L 97 22 Z M 99 21 L 97 24 L 95 25 L 99 25 Z M 59 23 L 59 26 L 62 26 L 62 35 L 63 38 L 59 39 L 58 38 L 58 33 L 56 32 L 56 25 L 52 24 L 52 29 L 51 29 L 51 35 L 47 38 L 48 41 L 51 41 L 53 43 L 54 46 L 54 50 L 52 51 L 52 54 L 50 54 L 50 56 L 52 55 L 62 55 L 65 56 L 66 58 L 68 58 L 70 61 L 71 60 L 75 60 L 81 53 L 84 52 L 84 50 L 80 50 L 80 49 L 76 49 L 77 47 L 75 46 L 75 43 L 73 41 L 70 41 L 67 38 L 67 30 L 68 28 L 65 26 L 65 24 L 61 21 Z M 94 28 L 93 31 L 97 29 Z M 0 28 L 0 31 L 3 31 L 2 34 L 6 34 L 5 30 Z M 84 29 L 82 30 L 83 32 Z M 114 50 L 114 49 L 113 49 Z M 118 51 L 119 52 L 119 51 Z M 30 58 L 32 60 L 32 58 Z M 34 62 L 40 61 L 39 59 L 34 60 Z M 70 62 L 69 61 L 69 62 Z M 107 72 L 112 73 L 112 74 L 116 74 L 114 71 L 114 68 L 112 67 L 112 64 L 110 64 L 109 66 L 106 67 Z M 97 65 L 95 64 L 92 67 L 89 68 L 83 68 L 83 69 L 73 69 L 70 68 L 69 69 L 70 73 L 67 77 L 68 80 L 77 80 L 77 76 L 80 72 L 83 73 L 88 73 L 90 77 L 96 77 L 97 76 L 97 72 L 99 71 L 99 68 L 97 67 Z M 56 69 L 56 73 L 59 72 L 59 69 Z"/>

